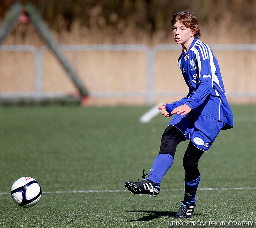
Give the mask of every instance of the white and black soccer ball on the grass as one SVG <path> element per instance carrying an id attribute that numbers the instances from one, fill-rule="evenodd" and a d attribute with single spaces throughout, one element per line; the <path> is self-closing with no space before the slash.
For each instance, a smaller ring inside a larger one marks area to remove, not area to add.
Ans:
<path id="1" fill-rule="evenodd" d="M 42 189 L 39 183 L 32 177 L 21 177 L 11 187 L 11 197 L 20 207 L 32 207 L 41 198 Z"/>

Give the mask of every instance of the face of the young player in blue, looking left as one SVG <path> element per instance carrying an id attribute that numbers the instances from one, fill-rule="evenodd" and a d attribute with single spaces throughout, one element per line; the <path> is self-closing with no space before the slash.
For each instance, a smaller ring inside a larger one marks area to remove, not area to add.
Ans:
<path id="1" fill-rule="evenodd" d="M 192 38 L 193 35 L 191 29 L 182 25 L 180 21 L 173 25 L 173 37 L 177 44 L 186 46 L 187 43 L 191 42 L 191 39 L 194 39 Z"/>

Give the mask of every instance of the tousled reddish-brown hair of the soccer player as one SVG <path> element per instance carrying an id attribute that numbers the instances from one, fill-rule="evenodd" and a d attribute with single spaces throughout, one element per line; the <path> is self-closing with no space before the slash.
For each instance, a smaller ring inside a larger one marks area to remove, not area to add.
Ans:
<path id="1" fill-rule="evenodd" d="M 190 28 L 193 31 L 196 31 L 194 35 L 195 38 L 199 39 L 201 37 L 199 24 L 196 16 L 193 13 L 188 12 L 186 10 L 179 11 L 175 13 L 172 17 L 172 27 L 177 21 L 180 21 L 180 23 L 185 27 Z"/>

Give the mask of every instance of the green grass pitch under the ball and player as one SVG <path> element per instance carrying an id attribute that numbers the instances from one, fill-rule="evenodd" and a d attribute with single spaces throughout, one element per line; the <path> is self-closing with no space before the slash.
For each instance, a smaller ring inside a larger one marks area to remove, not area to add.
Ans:
<path id="1" fill-rule="evenodd" d="M 233 106 L 234 125 L 199 162 L 194 216 L 184 221 L 256 221 L 256 106 Z M 157 197 L 124 182 L 149 171 L 170 118 L 139 118 L 149 107 L 0 108 L 0 227 L 167 227 L 184 194 L 182 142 Z M 147 172 L 148 173 L 148 172 Z M 12 183 L 35 178 L 42 198 L 20 208 Z M 93 191 L 91 191 L 93 190 Z M 254 223 L 255 226 L 255 223 Z"/>

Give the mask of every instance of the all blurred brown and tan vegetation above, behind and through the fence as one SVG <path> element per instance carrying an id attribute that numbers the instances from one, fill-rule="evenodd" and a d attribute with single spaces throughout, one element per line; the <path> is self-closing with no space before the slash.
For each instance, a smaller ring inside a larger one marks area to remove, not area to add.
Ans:
<path id="1" fill-rule="evenodd" d="M 22 3 L 29 0 L 22 0 Z M 0 0 L 0 17 L 15 0 Z M 170 20 L 179 9 L 197 15 L 201 40 L 208 43 L 256 44 L 256 1 L 253 0 L 30 0 L 37 5 L 54 36 L 61 44 L 173 44 Z M 45 45 L 34 26 L 17 24 L 3 44 Z M 141 53 L 76 52 L 66 53 L 91 92 L 146 91 L 146 61 Z M 255 91 L 255 53 L 215 52 L 227 92 Z M 178 52 L 156 56 L 155 91 L 182 91 L 186 94 Z M 1 53 L 0 91 L 33 91 L 31 54 Z M 10 64 L 11 63 L 11 64 Z M 47 52 L 43 67 L 44 92 L 75 93 L 63 68 Z M 175 84 L 173 83 L 175 81 Z M 158 97 L 169 101 L 180 97 Z M 255 99 L 229 98 L 231 102 L 255 102 Z M 93 99 L 91 103 L 145 103 L 144 98 Z"/>

